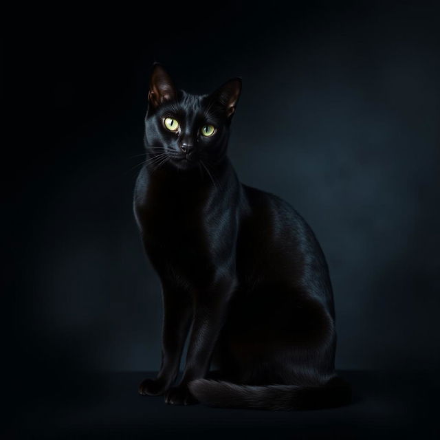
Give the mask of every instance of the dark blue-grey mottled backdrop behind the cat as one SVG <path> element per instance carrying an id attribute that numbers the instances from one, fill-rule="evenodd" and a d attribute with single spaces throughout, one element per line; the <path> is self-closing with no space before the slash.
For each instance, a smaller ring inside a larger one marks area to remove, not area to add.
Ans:
<path id="1" fill-rule="evenodd" d="M 316 232 L 335 293 L 337 367 L 434 369 L 436 3 L 16 11 L 5 90 L 19 142 L 3 163 L 13 213 L 3 220 L 20 380 L 31 369 L 44 378 L 32 385 L 41 397 L 79 373 L 159 366 L 159 283 L 132 213 L 153 61 L 196 94 L 243 78 L 230 157 L 245 184 L 285 198 Z"/>

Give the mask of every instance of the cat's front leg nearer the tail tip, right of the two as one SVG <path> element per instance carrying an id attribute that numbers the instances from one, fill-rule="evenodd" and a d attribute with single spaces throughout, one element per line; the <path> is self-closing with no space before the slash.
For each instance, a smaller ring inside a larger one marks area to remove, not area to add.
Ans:
<path id="1" fill-rule="evenodd" d="M 197 296 L 184 375 L 179 386 L 170 388 L 165 393 L 167 404 L 197 403 L 188 390 L 188 383 L 205 377 L 209 370 L 214 345 L 225 322 L 234 287 L 234 282 L 225 281 Z"/>

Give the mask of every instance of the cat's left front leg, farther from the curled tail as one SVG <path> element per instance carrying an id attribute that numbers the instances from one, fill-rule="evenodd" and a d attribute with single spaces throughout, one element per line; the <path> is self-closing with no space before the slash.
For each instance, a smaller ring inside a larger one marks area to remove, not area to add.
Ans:
<path id="1" fill-rule="evenodd" d="M 164 287 L 162 297 L 162 365 L 156 379 L 145 379 L 140 384 L 141 395 L 163 395 L 173 384 L 179 373 L 181 352 L 190 327 L 192 303 L 188 292 Z"/>

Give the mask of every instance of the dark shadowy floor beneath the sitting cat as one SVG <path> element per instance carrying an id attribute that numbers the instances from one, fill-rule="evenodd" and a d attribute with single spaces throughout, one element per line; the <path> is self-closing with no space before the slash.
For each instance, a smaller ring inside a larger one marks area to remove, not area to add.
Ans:
<path id="1" fill-rule="evenodd" d="M 434 372 L 340 374 L 353 386 L 350 406 L 270 412 L 168 406 L 162 397 L 137 395 L 138 384 L 144 377 L 153 377 L 153 373 L 109 373 L 75 384 L 75 397 L 67 393 L 57 401 L 32 404 L 5 438 L 438 438 L 434 417 L 438 412 L 439 383 Z"/>

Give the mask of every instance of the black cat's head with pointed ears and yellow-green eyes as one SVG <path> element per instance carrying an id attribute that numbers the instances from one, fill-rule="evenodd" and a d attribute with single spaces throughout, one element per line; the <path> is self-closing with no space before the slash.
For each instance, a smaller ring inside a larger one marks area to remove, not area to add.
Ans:
<path id="1" fill-rule="evenodd" d="M 212 94 L 190 95 L 176 89 L 162 65 L 155 64 L 145 120 L 149 163 L 189 170 L 219 162 L 240 92 L 241 79 L 234 78 Z"/>

